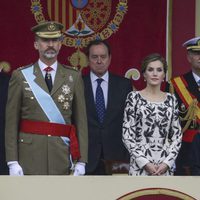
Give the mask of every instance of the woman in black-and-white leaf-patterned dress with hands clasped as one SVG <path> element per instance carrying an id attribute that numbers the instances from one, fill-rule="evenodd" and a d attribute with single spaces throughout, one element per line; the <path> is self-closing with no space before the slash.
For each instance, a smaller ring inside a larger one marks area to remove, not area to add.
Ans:
<path id="1" fill-rule="evenodd" d="M 159 54 L 142 62 L 146 87 L 126 99 L 123 142 L 130 153 L 129 175 L 173 175 L 181 147 L 175 96 L 160 90 L 167 63 Z"/>

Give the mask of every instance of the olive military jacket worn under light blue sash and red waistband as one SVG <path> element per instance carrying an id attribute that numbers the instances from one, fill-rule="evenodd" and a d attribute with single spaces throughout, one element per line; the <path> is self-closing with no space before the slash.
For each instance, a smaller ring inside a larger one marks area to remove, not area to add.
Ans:
<path id="1" fill-rule="evenodd" d="M 30 67 L 30 66 L 28 66 Z M 6 160 L 18 161 L 24 174 L 69 174 L 69 146 L 60 137 L 20 132 L 20 120 L 49 121 L 22 74 L 23 68 L 12 74 L 6 108 Z M 49 93 L 38 63 L 34 64 L 35 82 Z M 60 101 L 64 87 L 72 98 Z M 58 64 L 50 93 L 66 123 L 74 124 L 79 140 L 80 162 L 87 162 L 88 131 L 81 73 Z M 48 102 L 46 102 L 48 104 Z"/>

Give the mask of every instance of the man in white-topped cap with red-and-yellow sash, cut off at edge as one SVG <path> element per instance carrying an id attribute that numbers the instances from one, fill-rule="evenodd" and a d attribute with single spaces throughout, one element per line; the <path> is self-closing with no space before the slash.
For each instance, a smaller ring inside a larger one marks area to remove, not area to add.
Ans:
<path id="1" fill-rule="evenodd" d="M 171 91 L 178 99 L 183 131 L 175 175 L 191 175 L 191 143 L 200 130 L 200 37 L 186 41 L 183 46 L 187 49 L 191 70 L 171 80 Z"/>

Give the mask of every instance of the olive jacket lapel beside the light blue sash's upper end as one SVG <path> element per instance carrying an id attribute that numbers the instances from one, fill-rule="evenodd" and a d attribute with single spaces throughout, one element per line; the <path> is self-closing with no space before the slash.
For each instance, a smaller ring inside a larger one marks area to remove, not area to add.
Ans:
<path id="1" fill-rule="evenodd" d="M 49 93 L 49 90 L 47 88 L 47 84 L 44 80 L 44 77 L 42 75 L 42 72 L 40 70 L 40 67 L 38 65 L 38 63 L 34 64 L 34 68 L 33 68 L 33 74 L 35 75 L 35 82 L 43 89 L 45 90 L 45 92 Z"/>

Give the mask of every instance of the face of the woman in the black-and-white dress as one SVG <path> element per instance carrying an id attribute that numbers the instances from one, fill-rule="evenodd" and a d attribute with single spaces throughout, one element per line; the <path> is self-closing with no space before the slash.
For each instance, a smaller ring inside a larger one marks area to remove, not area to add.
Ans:
<path id="1" fill-rule="evenodd" d="M 165 78 L 165 72 L 162 62 L 159 60 L 150 62 L 144 72 L 144 78 L 148 85 L 156 86 L 161 85 Z"/>

